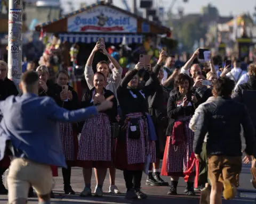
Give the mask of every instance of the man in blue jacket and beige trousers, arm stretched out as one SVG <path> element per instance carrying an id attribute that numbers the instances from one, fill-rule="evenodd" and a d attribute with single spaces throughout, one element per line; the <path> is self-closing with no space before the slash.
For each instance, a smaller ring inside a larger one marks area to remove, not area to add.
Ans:
<path id="1" fill-rule="evenodd" d="M 50 165 L 67 167 L 58 122 L 84 121 L 112 107 L 108 98 L 99 106 L 67 111 L 50 97 L 38 97 L 38 74 L 22 75 L 23 95 L 0 102 L 0 160 L 5 151 L 13 157 L 7 176 L 9 203 L 25 204 L 30 184 L 39 203 L 50 203 L 53 178 Z"/>

